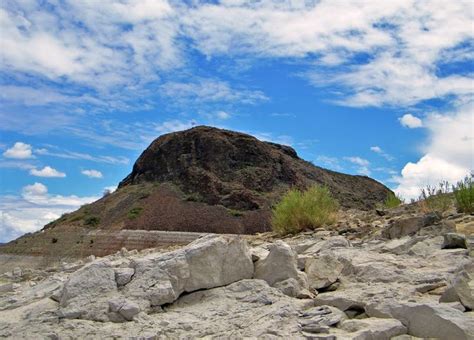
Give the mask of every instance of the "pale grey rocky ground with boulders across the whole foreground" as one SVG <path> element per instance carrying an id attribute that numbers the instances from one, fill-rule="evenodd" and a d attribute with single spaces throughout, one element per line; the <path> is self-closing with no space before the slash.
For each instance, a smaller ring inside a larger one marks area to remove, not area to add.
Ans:
<path id="1" fill-rule="evenodd" d="M 474 217 L 371 218 L 14 268 L 0 337 L 474 339 Z"/>

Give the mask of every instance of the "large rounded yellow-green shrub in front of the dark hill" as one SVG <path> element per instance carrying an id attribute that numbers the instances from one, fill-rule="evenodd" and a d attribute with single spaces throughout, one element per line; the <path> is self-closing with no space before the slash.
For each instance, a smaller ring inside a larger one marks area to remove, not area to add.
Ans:
<path id="1" fill-rule="evenodd" d="M 279 234 L 295 234 L 334 223 L 339 208 L 325 187 L 312 186 L 301 192 L 289 190 L 272 211 L 272 227 Z"/>

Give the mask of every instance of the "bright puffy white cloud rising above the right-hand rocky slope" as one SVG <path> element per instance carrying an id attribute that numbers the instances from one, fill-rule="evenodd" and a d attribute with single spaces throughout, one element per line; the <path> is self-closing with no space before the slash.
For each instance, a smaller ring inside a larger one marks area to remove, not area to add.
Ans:
<path id="1" fill-rule="evenodd" d="M 431 114 L 425 121 L 430 138 L 424 155 L 394 177 L 396 192 L 405 198 L 416 198 L 421 188 L 442 180 L 455 183 L 474 169 L 472 103 L 450 114 Z"/>

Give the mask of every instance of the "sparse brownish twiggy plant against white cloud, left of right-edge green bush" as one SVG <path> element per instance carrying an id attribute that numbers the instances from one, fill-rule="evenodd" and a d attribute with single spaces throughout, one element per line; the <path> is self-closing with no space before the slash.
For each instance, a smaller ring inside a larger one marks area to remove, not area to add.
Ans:
<path id="1" fill-rule="evenodd" d="M 445 213 L 453 205 L 449 183 L 442 181 L 438 186 L 427 185 L 426 188 L 422 188 L 418 202 L 422 211 Z"/>

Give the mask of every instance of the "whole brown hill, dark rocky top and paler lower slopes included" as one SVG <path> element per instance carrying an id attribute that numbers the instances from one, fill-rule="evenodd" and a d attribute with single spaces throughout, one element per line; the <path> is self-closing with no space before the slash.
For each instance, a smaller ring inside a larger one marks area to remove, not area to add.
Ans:
<path id="1" fill-rule="evenodd" d="M 140 245 L 117 237 L 124 229 L 269 231 L 271 207 L 281 195 L 291 187 L 304 189 L 315 183 L 327 186 L 342 208 L 370 210 L 390 192 L 368 177 L 314 166 L 288 146 L 238 132 L 195 127 L 157 138 L 114 193 L 65 214 L 42 232 L 13 241 L 1 251 L 41 255 L 54 245 L 77 256 L 103 255 L 122 246 L 153 246 L 155 241 Z"/>

